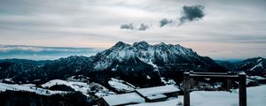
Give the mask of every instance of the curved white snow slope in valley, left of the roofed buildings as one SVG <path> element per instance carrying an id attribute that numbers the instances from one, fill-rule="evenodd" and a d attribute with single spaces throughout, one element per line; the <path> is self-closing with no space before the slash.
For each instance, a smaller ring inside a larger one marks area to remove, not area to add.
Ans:
<path id="1" fill-rule="evenodd" d="M 52 79 L 49 82 L 42 85 L 42 87 L 52 87 L 55 85 L 66 85 L 67 87 L 72 87 L 75 91 L 82 92 L 83 95 L 88 95 L 88 91 L 90 91 L 90 86 L 84 82 L 77 81 L 66 81 L 62 79 Z"/>

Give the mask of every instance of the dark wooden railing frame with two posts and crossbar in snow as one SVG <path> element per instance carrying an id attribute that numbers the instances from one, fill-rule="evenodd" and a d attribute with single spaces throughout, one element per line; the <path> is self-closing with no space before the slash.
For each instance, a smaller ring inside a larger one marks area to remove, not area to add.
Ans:
<path id="1" fill-rule="evenodd" d="M 239 80 L 239 106 L 246 106 L 246 74 L 233 75 L 231 72 L 184 72 L 184 106 L 190 106 L 190 92 L 193 78 L 227 79 L 227 90 L 231 88 L 231 79 Z"/>

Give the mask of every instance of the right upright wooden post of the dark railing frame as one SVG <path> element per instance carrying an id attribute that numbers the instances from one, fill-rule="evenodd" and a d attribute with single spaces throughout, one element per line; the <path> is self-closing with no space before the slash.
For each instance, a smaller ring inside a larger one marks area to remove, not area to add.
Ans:
<path id="1" fill-rule="evenodd" d="M 246 106 L 246 73 L 239 73 L 239 106 Z"/>

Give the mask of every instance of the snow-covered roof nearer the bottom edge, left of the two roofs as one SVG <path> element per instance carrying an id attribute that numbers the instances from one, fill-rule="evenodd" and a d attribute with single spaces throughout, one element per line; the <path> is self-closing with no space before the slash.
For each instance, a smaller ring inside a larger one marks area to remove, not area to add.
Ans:
<path id="1" fill-rule="evenodd" d="M 108 95 L 104 96 L 103 99 L 111 106 L 145 102 L 145 99 L 140 95 L 137 95 L 137 93 Z"/>

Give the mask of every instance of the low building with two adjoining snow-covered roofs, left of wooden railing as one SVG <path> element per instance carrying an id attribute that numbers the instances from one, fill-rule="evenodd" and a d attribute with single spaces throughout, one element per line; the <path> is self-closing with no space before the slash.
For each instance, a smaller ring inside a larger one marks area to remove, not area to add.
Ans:
<path id="1" fill-rule="evenodd" d="M 161 102 L 177 97 L 180 90 L 174 85 L 136 89 L 132 93 L 108 95 L 98 99 L 98 106 L 118 106 L 144 102 Z"/>

